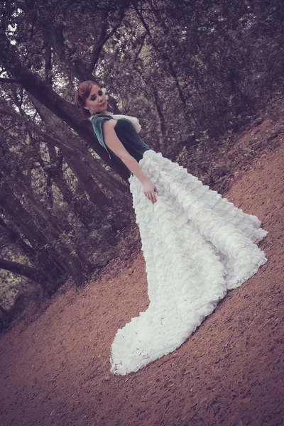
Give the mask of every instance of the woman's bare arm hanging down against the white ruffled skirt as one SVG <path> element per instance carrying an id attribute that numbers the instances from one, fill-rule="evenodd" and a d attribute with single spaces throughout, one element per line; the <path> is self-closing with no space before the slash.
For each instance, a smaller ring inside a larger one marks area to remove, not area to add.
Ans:
<path id="1" fill-rule="evenodd" d="M 124 148 L 124 145 L 116 136 L 116 132 L 114 130 L 114 126 L 111 123 L 111 120 L 103 121 L 102 130 L 104 135 L 104 143 L 121 159 L 121 161 L 124 162 L 126 167 L 129 168 L 129 170 L 134 175 L 136 175 L 136 178 L 140 180 L 143 185 L 143 190 L 146 197 L 151 200 L 152 203 L 155 202 L 155 192 L 158 194 L 157 188 L 143 172 L 136 159 L 133 158 L 128 151 L 126 151 L 126 148 Z"/>

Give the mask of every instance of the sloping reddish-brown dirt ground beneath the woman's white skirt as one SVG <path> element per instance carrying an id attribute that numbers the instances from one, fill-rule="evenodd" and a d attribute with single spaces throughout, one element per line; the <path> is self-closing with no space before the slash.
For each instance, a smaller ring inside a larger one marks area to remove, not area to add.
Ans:
<path id="1" fill-rule="evenodd" d="M 62 289 L 1 337 L 0 425 L 283 425 L 283 165 L 281 143 L 223 195 L 263 221 L 268 262 L 185 344 L 138 373 L 109 373 L 116 330 L 148 306 L 143 255 L 128 252 L 140 244 L 133 226 L 97 282 Z"/>

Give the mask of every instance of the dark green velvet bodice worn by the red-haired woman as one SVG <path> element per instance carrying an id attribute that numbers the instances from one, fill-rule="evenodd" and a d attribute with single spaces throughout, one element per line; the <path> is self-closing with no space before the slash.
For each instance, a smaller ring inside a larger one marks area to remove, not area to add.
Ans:
<path id="1" fill-rule="evenodd" d="M 94 134 L 97 136 L 99 143 L 101 143 L 101 145 L 106 149 L 107 153 L 109 153 L 109 158 L 111 158 L 110 153 L 114 154 L 114 152 L 111 151 L 106 143 L 104 143 L 102 122 L 103 120 L 110 120 L 111 118 L 112 117 L 107 114 L 102 114 L 100 116 L 90 118 L 92 121 Z M 133 119 L 133 117 L 129 118 Z M 119 138 L 124 148 L 126 148 L 126 151 L 128 151 L 129 154 L 136 159 L 137 163 L 139 163 L 139 160 L 143 158 L 143 153 L 151 149 L 138 135 L 136 128 L 129 119 L 117 119 L 116 125 L 114 126 L 114 131 L 116 132 L 116 136 Z M 133 175 L 132 172 L 131 175 Z"/>

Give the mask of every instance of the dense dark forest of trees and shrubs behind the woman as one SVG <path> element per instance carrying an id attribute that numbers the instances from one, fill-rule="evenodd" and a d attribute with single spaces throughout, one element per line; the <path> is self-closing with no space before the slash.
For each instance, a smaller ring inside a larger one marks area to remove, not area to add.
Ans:
<path id="1" fill-rule="evenodd" d="M 17 0 L 0 7 L 4 326 L 31 297 L 49 296 L 68 279 L 83 285 L 135 222 L 129 171 L 109 160 L 75 107 L 80 82 L 99 80 L 110 110 L 137 116 L 154 151 L 222 193 L 258 144 L 234 158 L 226 158 L 229 148 L 283 94 L 284 5 Z"/>

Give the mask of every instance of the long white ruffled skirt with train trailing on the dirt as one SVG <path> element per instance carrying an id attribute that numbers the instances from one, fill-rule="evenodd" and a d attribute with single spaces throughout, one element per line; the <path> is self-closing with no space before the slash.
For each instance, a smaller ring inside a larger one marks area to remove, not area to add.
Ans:
<path id="1" fill-rule="evenodd" d="M 116 332 L 110 362 L 117 375 L 175 351 L 227 290 L 239 287 L 267 261 L 256 245 L 268 234 L 258 217 L 161 153 L 146 151 L 139 165 L 159 192 L 152 204 L 138 178 L 129 178 L 150 304 Z"/>

